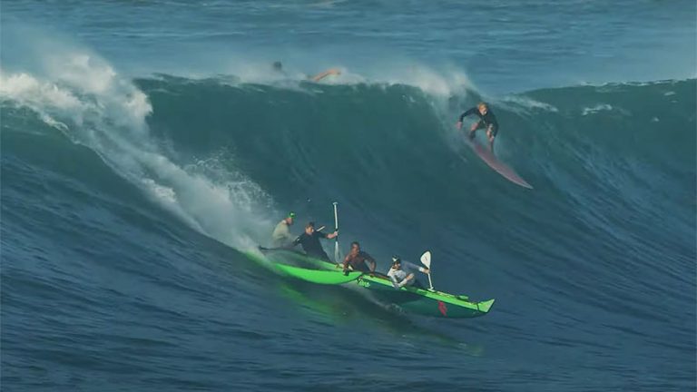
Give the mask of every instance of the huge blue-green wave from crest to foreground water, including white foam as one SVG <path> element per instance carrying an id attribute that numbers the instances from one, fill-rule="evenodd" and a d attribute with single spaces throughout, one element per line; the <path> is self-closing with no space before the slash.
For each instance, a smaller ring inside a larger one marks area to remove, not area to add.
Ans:
<path id="1" fill-rule="evenodd" d="M 695 80 L 490 100 L 528 191 L 456 132 L 475 91 L 70 64 L 0 74 L 5 386 L 694 387 Z M 495 309 L 411 319 L 244 255 L 332 201 L 343 245 L 432 250 Z"/>

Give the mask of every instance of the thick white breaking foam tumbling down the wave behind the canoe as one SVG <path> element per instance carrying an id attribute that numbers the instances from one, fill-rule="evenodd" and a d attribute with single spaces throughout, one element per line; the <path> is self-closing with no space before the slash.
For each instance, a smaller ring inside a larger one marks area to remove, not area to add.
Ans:
<path id="1" fill-rule="evenodd" d="M 147 96 L 89 51 L 43 53 L 44 73 L 0 70 L 0 98 L 38 113 L 72 141 L 90 147 L 152 201 L 192 229 L 247 249 L 268 235 L 270 197 L 240 171 L 180 166 L 157 147 L 145 122 Z"/>

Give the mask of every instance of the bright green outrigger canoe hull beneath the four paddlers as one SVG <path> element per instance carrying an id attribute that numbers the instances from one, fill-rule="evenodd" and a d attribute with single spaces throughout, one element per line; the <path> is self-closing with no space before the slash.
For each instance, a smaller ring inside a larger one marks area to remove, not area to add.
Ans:
<path id="1" fill-rule="evenodd" d="M 370 290 L 379 301 L 395 305 L 406 313 L 448 319 L 476 318 L 486 315 L 495 301 L 488 299 L 473 302 L 466 296 L 410 286 L 395 289 L 392 281 L 382 274 L 369 275 L 352 271 L 345 276 L 338 265 L 329 261 L 309 258 L 293 250 L 261 250 L 286 275 L 320 284 L 356 284 Z M 276 260 L 292 260 L 302 264 L 302 267 L 277 263 Z"/>

